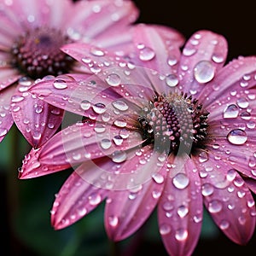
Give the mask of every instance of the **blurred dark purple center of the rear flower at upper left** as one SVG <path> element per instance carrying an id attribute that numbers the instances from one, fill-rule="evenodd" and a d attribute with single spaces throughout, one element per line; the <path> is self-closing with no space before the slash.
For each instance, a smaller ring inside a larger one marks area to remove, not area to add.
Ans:
<path id="1" fill-rule="evenodd" d="M 73 58 L 60 49 L 68 43 L 71 40 L 55 28 L 35 28 L 17 38 L 13 44 L 12 64 L 32 79 L 68 73 L 73 65 Z"/>

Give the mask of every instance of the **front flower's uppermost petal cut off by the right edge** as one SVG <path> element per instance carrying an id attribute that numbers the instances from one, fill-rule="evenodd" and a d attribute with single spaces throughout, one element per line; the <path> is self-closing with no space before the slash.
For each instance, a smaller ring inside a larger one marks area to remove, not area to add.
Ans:
<path id="1" fill-rule="evenodd" d="M 244 95 L 246 90 L 253 88 L 255 85 L 255 79 L 253 74 L 256 71 L 256 57 L 239 57 L 236 60 L 230 61 L 225 67 L 223 67 L 218 75 L 204 87 L 201 91 L 199 100 L 204 102 L 204 106 L 210 107 L 212 111 L 213 106 L 216 106 L 216 102 L 227 102 L 227 97 L 231 96 L 234 101 L 236 93 Z M 248 80 L 247 80 L 248 79 Z M 247 95 L 248 99 L 249 95 Z M 237 96 L 236 96 L 237 100 Z M 229 101 L 228 101 L 229 102 Z"/>

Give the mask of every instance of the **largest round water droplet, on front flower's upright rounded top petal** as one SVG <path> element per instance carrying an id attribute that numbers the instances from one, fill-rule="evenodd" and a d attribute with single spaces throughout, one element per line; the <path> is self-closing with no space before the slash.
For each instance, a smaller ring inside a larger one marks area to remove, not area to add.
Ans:
<path id="1" fill-rule="evenodd" d="M 211 81 L 215 74 L 215 67 L 210 61 L 200 61 L 195 65 L 194 77 L 198 83 L 204 84 Z"/>

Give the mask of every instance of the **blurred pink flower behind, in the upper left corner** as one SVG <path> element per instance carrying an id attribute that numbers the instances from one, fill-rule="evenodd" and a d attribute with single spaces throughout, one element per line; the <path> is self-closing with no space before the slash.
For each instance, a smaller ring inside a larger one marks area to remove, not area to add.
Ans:
<path id="1" fill-rule="evenodd" d="M 27 94 L 46 75 L 85 72 L 61 52 L 71 42 L 119 50 L 138 10 L 131 1 L 0 1 L 0 141 L 14 121 L 32 146 L 61 125 L 63 111 Z"/>

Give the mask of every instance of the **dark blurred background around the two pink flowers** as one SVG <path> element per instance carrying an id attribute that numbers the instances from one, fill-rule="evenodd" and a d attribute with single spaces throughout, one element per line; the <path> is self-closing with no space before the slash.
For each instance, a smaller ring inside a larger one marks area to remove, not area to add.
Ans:
<path id="1" fill-rule="evenodd" d="M 189 38 L 201 29 L 224 35 L 229 44 L 228 61 L 239 55 L 256 54 L 255 1 L 235 3 L 224 0 L 204 2 L 135 0 L 134 2 L 141 10 L 137 22 L 172 26 L 182 32 L 185 38 Z M 52 230 L 49 210 L 55 193 L 61 188 L 61 184 L 70 172 L 67 170 L 47 177 L 18 180 L 17 168 L 21 165 L 24 154 L 15 154 L 15 152 L 17 150 L 21 153 L 28 152 L 28 148 L 17 133 L 15 128 L 12 129 L 0 145 L 0 233 L 3 237 L 0 240 L 0 247 L 2 252 L 6 250 L 3 255 L 167 255 L 158 235 L 155 215 L 149 219 L 142 232 L 118 245 L 108 241 L 104 232 L 103 206 L 66 230 Z M 9 148 L 9 144 L 14 140 L 15 148 Z M 15 168 L 9 168 L 6 163 L 11 163 Z M 256 232 L 247 246 L 242 247 L 219 232 L 208 216 L 205 219 L 201 239 L 193 256 L 255 253 Z"/>

